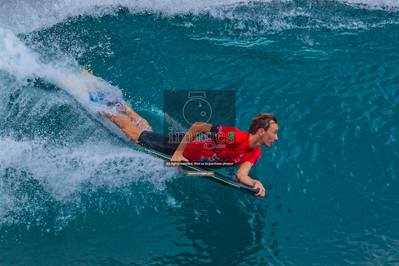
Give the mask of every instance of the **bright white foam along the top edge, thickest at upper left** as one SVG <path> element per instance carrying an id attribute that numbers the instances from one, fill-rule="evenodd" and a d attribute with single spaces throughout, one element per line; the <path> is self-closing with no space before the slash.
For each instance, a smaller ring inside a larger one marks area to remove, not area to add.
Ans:
<path id="1" fill-rule="evenodd" d="M 16 0 L 5 1 L 0 8 L 0 27 L 13 33 L 28 33 L 48 28 L 67 18 L 90 15 L 115 14 L 121 7 L 131 13 L 162 12 L 166 15 L 201 14 L 209 12 L 217 18 L 233 18 L 232 10 L 238 6 L 253 3 L 272 2 L 271 0 Z M 280 1 L 282 3 L 286 0 Z M 288 1 L 289 2 L 289 1 Z M 337 1 L 370 10 L 397 11 L 398 0 L 348 0 Z M 295 14 L 294 14 L 295 15 Z M 300 11 L 298 11 L 300 15 Z M 264 18 L 267 20 L 267 18 Z"/>

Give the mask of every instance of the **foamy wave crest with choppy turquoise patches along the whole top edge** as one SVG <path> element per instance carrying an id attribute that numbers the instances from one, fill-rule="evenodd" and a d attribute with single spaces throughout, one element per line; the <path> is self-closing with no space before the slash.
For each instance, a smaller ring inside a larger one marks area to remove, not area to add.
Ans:
<path id="1" fill-rule="evenodd" d="M 322 6 L 321 9 L 318 8 L 320 6 Z M 269 28 L 273 30 L 279 28 L 278 24 L 280 23 L 280 20 L 273 23 L 275 18 L 283 18 L 282 23 L 284 24 L 286 18 L 294 17 L 303 21 L 310 17 L 316 21 L 321 19 L 321 22 L 328 25 L 328 23 L 334 24 L 335 19 L 338 19 L 338 22 L 341 18 L 345 19 L 347 12 L 354 13 L 354 16 L 360 15 L 358 18 L 362 20 L 362 14 L 356 14 L 357 12 L 354 10 L 379 10 L 389 14 L 396 13 L 399 10 L 399 3 L 393 0 L 223 0 L 218 2 L 208 0 L 42 0 L 40 2 L 18 0 L 3 5 L 2 11 L 0 11 L 0 25 L 14 33 L 28 33 L 49 28 L 67 18 L 85 15 L 94 17 L 115 15 L 122 8 L 127 8 L 132 14 L 155 12 L 166 16 L 209 13 L 214 18 L 222 20 L 242 20 L 243 23 L 251 20 L 260 24 L 268 24 Z M 327 17 L 325 17 L 326 15 Z M 293 25 L 295 26 L 295 23 Z M 287 23 L 286 26 L 289 28 L 291 25 Z"/>

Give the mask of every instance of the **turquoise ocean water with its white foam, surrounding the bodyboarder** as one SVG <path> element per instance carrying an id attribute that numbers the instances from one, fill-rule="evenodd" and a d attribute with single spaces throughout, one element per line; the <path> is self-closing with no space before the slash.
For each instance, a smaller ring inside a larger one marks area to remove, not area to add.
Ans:
<path id="1" fill-rule="evenodd" d="M 398 1 L 0 6 L 0 265 L 399 265 Z M 272 112 L 267 196 L 162 167 L 87 88 L 159 132 L 164 90 Z"/>

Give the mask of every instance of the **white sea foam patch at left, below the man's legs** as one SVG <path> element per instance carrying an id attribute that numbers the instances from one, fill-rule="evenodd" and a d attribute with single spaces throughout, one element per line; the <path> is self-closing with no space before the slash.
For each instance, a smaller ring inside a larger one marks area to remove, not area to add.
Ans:
<path id="1" fill-rule="evenodd" d="M 46 140 L 16 141 L 1 138 L 0 174 L 11 167 L 24 171 L 45 184 L 56 200 L 67 199 L 79 192 L 82 185 L 116 187 L 146 180 L 163 190 L 163 182 L 176 174 L 164 168 L 162 161 L 148 154 L 107 142 L 87 142 L 77 147 L 48 148 Z M 161 173 L 161 174 L 160 174 Z"/>

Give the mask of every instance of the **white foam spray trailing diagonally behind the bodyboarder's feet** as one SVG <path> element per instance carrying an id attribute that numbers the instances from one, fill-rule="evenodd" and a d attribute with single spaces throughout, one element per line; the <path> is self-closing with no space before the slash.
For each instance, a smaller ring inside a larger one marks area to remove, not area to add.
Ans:
<path id="1" fill-rule="evenodd" d="M 8 72 L 18 84 L 26 84 L 29 79 L 37 78 L 52 83 L 73 96 L 93 116 L 104 110 L 117 112 L 117 109 L 115 106 L 105 108 L 103 104 L 91 102 L 90 94 L 97 92 L 122 94 L 118 87 L 81 69 L 78 63 L 69 57 L 51 63 L 41 62 L 39 53 L 26 47 L 12 32 L 2 28 L 0 28 L 0 70 Z"/>

